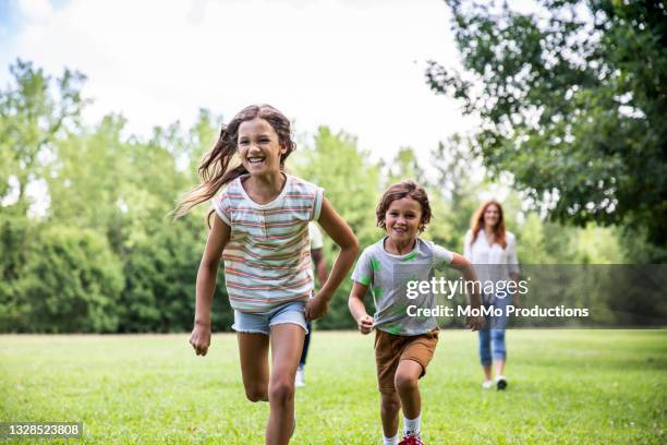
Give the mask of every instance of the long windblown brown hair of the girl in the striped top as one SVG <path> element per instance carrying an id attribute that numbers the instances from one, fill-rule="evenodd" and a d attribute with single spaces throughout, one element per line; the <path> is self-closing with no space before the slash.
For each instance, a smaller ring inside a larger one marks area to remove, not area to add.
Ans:
<path id="1" fill-rule="evenodd" d="M 280 146 L 287 148 L 280 155 L 280 169 L 284 168 L 284 159 L 296 148 L 296 144 L 292 141 L 290 121 L 270 105 L 262 104 L 245 107 L 227 125 L 222 124 L 218 141 L 204 155 L 199 164 L 198 171 L 202 183 L 180 197 L 173 211 L 173 219 L 184 216 L 195 205 L 214 197 L 222 185 L 233 181 L 241 175 L 247 173 L 247 170 L 242 165 L 230 167 L 230 163 L 237 154 L 239 127 L 241 123 L 256 118 L 267 121 L 278 134 Z M 213 213 L 214 211 L 211 209 L 206 216 L 209 228 Z"/>

